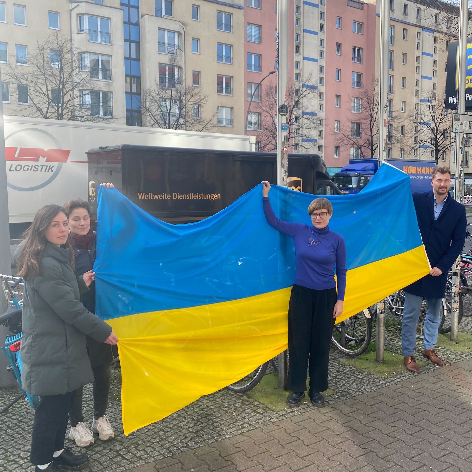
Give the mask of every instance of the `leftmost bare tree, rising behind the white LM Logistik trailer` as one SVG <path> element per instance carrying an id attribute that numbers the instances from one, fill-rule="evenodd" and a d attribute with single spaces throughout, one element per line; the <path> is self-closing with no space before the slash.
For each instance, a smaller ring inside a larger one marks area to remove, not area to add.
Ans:
<path id="1" fill-rule="evenodd" d="M 20 107 L 11 113 L 32 118 L 108 121 L 112 118 L 111 93 L 108 96 L 96 90 L 90 80 L 94 73 L 102 72 L 90 67 L 85 58 L 81 60 L 70 40 L 59 33 L 37 42 L 27 56 L 13 56 L 2 67 L 3 81 L 17 85 Z"/>

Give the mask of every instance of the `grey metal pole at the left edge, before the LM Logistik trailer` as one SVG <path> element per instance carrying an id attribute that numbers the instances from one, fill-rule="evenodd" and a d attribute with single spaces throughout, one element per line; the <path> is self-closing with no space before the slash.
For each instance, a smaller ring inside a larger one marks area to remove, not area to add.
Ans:
<path id="1" fill-rule="evenodd" d="M 1 70 L 0 70 L 0 93 L 2 93 Z M 7 191 L 7 161 L 5 160 L 5 132 L 3 124 L 3 103 L 0 100 L 0 274 L 11 274 L 11 258 L 10 258 L 10 225 L 8 220 L 8 191 Z M 0 291 L 1 313 L 7 308 L 7 300 Z M 7 328 L 0 325 L 0 336 L 6 336 Z M 0 387 L 11 385 L 12 376 L 8 374 L 7 358 L 0 356 Z"/>

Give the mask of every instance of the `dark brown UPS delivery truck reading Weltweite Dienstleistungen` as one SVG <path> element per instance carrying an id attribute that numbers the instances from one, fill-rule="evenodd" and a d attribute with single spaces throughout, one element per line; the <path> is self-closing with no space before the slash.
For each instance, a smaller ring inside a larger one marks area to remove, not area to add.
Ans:
<path id="1" fill-rule="evenodd" d="M 276 181 L 274 152 L 236 152 L 122 144 L 88 155 L 94 219 L 97 185 L 111 182 L 143 210 L 169 223 L 214 215 L 261 180 Z M 340 195 L 317 154 L 288 155 L 288 186 L 315 195 Z"/>

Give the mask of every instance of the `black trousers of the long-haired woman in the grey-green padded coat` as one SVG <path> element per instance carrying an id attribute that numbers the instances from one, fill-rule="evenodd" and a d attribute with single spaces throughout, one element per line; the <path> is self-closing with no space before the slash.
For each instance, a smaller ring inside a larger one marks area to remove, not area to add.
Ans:
<path id="1" fill-rule="evenodd" d="M 76 391 L 65 395 L 43 395 L 34 413 L 31 438 L 31 464 L 43 465 L 52 461 L 54 451 L 64 449 L 67 412 Z"/>

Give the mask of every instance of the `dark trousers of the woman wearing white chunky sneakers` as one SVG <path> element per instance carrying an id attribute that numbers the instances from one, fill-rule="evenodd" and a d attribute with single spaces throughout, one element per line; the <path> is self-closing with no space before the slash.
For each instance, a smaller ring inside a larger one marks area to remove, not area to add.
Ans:
<path id="1" fill-rule="evenodd" d="M 110 395 L 111 362 L 92 367 L 93 371 L 93 417 L 98 420 L 107 413 L 108 397 Z M 74 428 L 77 423 L 84 421 L 82 413 L 82 396 L 84 387 L 76 390 L 76 396 L 69 409 L 70 425 Z"/>

